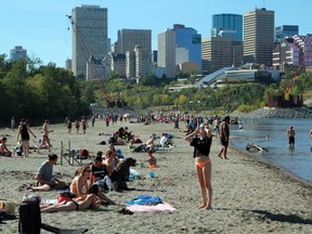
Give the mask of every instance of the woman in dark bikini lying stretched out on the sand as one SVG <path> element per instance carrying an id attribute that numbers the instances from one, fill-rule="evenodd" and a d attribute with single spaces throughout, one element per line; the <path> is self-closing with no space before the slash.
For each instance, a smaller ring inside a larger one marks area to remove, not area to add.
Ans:
<path id="1" fill-rule="evenodd" d="M 72 210 L 84 210 L 84 209 L 96 209 L 101 206 L 101 199 L 96 196 L 100 188 L 96 184 L 90 186 L 88 195 L 82 199 L 78 197 L 73 200 L 64 200 L 60 204 L 52 206 L 40 207 L 41 212 L 57 212 L 57 211 L 72 211 Z"/>

